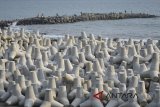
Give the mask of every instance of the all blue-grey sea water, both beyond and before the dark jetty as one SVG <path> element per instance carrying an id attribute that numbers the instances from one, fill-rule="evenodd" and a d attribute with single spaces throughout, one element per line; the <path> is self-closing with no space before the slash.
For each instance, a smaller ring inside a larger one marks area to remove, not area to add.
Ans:
<path id="1" fill-rule="evenodd" d="M 160 16 L 160 0 L 0 0 L 0 20 L 55 15 L 79 15 L 81 12 L 148 13 Z M 50 37 L 87 34 L 106 38 L 160 39 L 160 18 L 86 21 L 68 24 L 12 26 L 45 33 Z"/>

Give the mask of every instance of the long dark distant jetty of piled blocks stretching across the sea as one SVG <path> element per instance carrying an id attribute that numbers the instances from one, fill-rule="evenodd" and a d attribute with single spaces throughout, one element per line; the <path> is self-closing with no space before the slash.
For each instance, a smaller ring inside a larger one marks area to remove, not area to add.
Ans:
<path id="1" fill-rule="evenodd" d="M 129 18 L 154 18 L 156 15 L 150 15 L 146 13 L 82 13 L 80 15 L 72 16 L 37 16 L 32 18 L 17 19 L 17 25 L 35 25 L 35 24 L 63 24 L 63 23 L 75 23 L 80 21 L 95 21 L 95 20 L 117 20 L 117 19 L 129 19 Z M 0 21 L 0 27 L 7 27 L 13 21 Z"/>

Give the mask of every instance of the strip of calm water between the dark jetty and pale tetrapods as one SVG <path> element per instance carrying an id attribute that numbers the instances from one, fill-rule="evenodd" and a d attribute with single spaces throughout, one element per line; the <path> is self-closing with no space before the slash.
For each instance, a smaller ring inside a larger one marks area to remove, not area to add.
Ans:
<path id="1" fill-rule="evenodd" d="M 31 25 L 21 27 L 34 31 L 39 29 L 42 33 L 49 35 L 70 34 L 78 36 L 80 32 L 85 31 L 87 34 L 93 33 L 111 38 L 131 37 L 135 39 L 160 39 L 160 18 L 88 21 L 73 24 Z"/>

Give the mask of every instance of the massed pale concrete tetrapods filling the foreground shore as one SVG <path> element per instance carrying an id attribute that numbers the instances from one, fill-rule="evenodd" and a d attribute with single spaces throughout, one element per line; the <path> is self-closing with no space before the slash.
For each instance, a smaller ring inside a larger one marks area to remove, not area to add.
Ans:
<path id="1" fill-rule="evenodd" d="M 106 39 L 85 32 L 46 38 L 24 29 L 3 29 L 0 38 L 2 103 L 160 107 L 160 40 Z"/>

